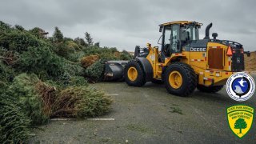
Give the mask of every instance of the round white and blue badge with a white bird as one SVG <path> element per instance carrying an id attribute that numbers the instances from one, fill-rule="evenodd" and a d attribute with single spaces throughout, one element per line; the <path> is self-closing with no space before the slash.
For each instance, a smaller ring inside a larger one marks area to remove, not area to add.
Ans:
<path id="1" fill-rule="evenodd" d="M 255 91 L 254 78 L 245 72 L 232 74 L 226 82 L 226 92 L 238 102 L 248 100 Z"/>

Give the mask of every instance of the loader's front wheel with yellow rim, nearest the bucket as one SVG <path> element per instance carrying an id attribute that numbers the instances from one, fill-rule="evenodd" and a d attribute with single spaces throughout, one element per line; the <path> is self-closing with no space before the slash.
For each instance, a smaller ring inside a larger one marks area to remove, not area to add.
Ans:
<path id="1" fill-rule="evenodd" d="M 130 61 L 125 67 L 125 80 L 129 86 L 143 86 L 146 83 L 145 74 L 140 63 Z"/>

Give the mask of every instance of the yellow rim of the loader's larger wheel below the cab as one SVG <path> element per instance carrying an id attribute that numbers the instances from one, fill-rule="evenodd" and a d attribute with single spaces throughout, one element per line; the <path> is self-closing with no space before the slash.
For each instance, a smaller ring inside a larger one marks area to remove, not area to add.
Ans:
<path id="1" fill-rule="evenodd" d="M 176 70 L 171 72 L 169 75 L 169 83 L 174 89 L 180 88 L 182 86 L 182 74 Z"/>

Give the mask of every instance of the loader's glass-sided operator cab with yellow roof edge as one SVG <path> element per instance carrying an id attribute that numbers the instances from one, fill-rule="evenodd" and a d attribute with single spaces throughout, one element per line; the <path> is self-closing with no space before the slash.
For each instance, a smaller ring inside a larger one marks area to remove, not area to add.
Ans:
<path id="1" fill-rule="evenodd" d="M 164 59 L 171 54 L 182 53 L 182 46 L 198 40 L 199 28 L 198 22 L 168 22 L 160 25 L 159 31 L 162 32 L 160 61 L 164 62 Z"/>

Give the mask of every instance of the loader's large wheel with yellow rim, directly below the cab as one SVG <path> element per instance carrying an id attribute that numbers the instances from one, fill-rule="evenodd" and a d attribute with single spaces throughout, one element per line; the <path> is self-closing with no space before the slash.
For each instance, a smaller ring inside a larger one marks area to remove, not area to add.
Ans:
<path id="1" fill-rule="evenodd" d="M 196 88 L 197 76 L 186 63 L 174 62 L 167 67 L 164 82 L 170 94 L 186 97 Z"/>

